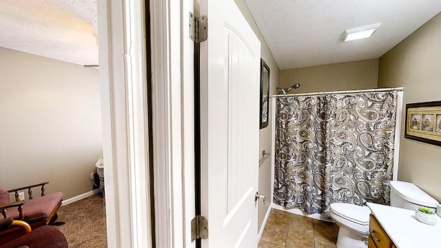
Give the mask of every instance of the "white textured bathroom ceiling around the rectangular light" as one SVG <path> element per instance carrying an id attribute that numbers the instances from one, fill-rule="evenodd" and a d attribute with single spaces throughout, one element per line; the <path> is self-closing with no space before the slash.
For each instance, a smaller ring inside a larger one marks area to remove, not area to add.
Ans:
<path id="1" fill-rule="evenodd" d="M 440 0 L 245 0 L 281 70 L 376 59 L 441 11 Z M 381 23 L 369 39 L 343 31 Z"/>

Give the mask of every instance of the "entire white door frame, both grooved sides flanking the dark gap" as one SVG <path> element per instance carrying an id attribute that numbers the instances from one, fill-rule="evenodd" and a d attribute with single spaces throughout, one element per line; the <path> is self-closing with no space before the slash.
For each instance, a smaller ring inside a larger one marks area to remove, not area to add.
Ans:
<path id="1" fill-rule="evenodd" d="M 194 247 L 193 72 L 184 63 L 193 56 L 185 41 L 185 13 L 193 1 L 145 1 L 152 96 L 146 89 L 144 3 L 98 1 L 107 247 Z"/>

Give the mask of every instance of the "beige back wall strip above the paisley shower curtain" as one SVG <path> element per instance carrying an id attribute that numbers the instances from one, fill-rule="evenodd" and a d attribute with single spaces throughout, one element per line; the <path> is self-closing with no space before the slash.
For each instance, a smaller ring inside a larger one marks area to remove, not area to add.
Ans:
<path id="1" fill-rule="evenodd" d="M 300 83 L 289 93 L 360 90 L 377 87 L 378 59 L 280 70 L 279 87 Z M 280 94 L 280 92 L 278 92 Z"/>

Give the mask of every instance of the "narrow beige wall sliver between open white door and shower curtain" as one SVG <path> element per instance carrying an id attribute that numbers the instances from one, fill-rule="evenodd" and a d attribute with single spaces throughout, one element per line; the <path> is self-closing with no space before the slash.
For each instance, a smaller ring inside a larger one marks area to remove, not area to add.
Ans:
<path id="1" fill-rule="evenodd" d="M 262 59 L 267 63 L 269 66 L 269 87 L 270 87 L 270 95 L 273 95 L 276 92 L 276 85 L 278 84 L 278 75 L 279 75 L 279 68 L 276 64 L 276 61 L 274 60 L 273 55 L 269 51 L 268 45 L 263 38 L 262 34 L 260 33 L 256 22 L 254 21 L 251 13 L 249 12 L 247 6 L 245 5 L 245 2 L 243 0 L 236 0 L 236 4 L 240 8 L 240 10 L 243 12 L 245 18 L 247 19 L 248 23 L 252 26 L 254 32 L 256 33 L 257 37 L 260 40 L 260 56 Z M 259 132 L 259 158 L 262 158 L 262 150 L 265 149 L 267 152 L 271 152 L 271 156 L 267 158 L 268 161 L 265 161 L 263 165 L 259 167 L 259 194 L 263 194 L 267 196 L 267 203 L 264 205 L 262 202 L 259 202 L 258 206 L 258 229 L 260 231 L 260 227 L 263 223 L 263 220 L 265 218 L 265 214 L 267 214 L 269 205 L 271 205 L 272 199 L 271 199 L 271 163 L 268 163 L 271 161 L 271 158 L 274 154 L 274 151 L 271 151 L 271 104 L 269 105 L 269 125 Z"/>

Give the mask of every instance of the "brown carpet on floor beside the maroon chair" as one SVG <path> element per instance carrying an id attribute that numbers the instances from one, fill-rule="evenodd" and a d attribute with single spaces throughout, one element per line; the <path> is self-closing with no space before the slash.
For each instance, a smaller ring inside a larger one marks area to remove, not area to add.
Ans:
<path id="1" fill-rule="evenodd" d="M 61 206 L 58 211 L 57 228 L 68 240 L 70 248 L 107 247 L 105 227 L 105 200 L 95 194 L 70 205 Z"/>

